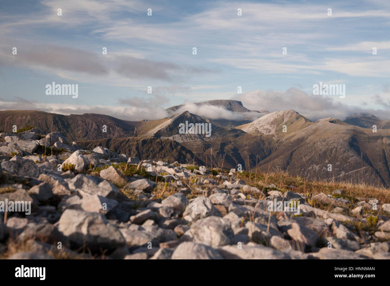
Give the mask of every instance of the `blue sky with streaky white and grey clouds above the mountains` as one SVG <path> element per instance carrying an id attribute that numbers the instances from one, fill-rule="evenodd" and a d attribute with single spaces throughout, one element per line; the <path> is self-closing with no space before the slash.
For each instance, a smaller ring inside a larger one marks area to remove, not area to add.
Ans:
<path id="1" fill-rule="evenodd" d="M 142 120 L 234 99 L 311 120 L 389 119 L 389 36 L 388 0 L 1 1 L 0 110 Z M 47 95 L 52 82 L 78 84 L 78 97 Z M 345 97 L 313 95 L 320 82 L 345 84 Z"/>

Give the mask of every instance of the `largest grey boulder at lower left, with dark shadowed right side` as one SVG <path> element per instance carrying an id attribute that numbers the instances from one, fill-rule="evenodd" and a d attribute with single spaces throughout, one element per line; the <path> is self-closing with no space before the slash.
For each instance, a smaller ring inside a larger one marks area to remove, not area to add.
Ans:
<path id="1" fill-rule="evenodd" d="M 122 233 L 103 214 L 95 212 L 66 209 L 58 221 L 58 230 L 68 237 L 73 249 L 85 246 L 93 253 L 113 251 L 126 243 Z"/>

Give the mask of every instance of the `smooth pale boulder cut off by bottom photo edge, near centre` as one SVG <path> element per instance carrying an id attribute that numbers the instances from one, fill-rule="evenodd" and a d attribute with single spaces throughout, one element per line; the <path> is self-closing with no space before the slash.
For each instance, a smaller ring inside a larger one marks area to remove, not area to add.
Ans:
<path id="1" fill-rule="evenodd" d="M 223 259 L 213 247 L 195 242 L 182 242 L 172 253 L 171 259 Z"/>

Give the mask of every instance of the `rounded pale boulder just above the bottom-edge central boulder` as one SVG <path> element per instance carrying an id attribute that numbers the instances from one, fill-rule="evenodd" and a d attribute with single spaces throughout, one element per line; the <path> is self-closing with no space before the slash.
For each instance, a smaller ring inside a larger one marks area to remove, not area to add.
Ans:
<path id="1" fill-rule="evenodd" d="M 234 232 L 230 221 L 217 216 L 199 219 L 191 225 L 194 242 L 212 247 L 231 244 Z"/>

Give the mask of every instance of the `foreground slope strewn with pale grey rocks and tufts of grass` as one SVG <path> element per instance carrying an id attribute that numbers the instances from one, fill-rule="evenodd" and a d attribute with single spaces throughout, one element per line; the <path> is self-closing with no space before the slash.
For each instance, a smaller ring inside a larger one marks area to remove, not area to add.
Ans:
<path id="1" fill-rule="evenodd" d="M 390 258 L 390 204 L 375 198 L 349 212 L 353 203 L 341 190 L 312 198 L 275 185 L 260 190 L 234 169 L 213 175 L 204 166 L 140 162 L 104 147 L 83 150 L 60 133 L 40 134 L 0 133 L 0 201 L 31 202 L 29 215 L 0 214 L 5 257 Z M 267 211 L 275 199 L 299 201 L 300 214 Z M 363 214 L 374 205 L 378 215 Z M 357 231 L 359 224 L 370 229 Z"/>

